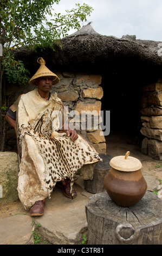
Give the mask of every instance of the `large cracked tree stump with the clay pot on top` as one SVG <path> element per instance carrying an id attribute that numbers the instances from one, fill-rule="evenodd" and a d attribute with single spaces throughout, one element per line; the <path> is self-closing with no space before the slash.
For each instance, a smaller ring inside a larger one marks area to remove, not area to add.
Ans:
<path id="1" fill-rule="evenodd" d="M 162 200 L 146 191 L 135 205 L 124 208 L 107 192 L 86 204 L 89 245 L 162 245 Z"/>

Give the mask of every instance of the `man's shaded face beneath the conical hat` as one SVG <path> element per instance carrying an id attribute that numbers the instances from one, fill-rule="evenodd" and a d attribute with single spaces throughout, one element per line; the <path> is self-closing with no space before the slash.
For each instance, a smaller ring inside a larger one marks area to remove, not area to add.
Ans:
<path id="1" fill-rule="evenodd" d="M 38 91 L 48 93 L 53 86 L 53 76 L 42 76 L 37 78 Z"/>

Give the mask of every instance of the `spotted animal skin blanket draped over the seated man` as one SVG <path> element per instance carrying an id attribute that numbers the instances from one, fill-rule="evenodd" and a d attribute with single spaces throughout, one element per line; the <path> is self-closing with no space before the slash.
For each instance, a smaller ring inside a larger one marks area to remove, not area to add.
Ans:
<path id="1" fill-rule="evenodd" d="M 18 196 L 29 210 L 37 201 L 50 198 L 57 181 L 71 180 L 81 168 L 85 179 L 93 178 L 96 162 L 102 161 L 95 149 L 80 135 L 74 142 L 64 132 L 62 118 L 67 120 L 64 107 L 57 94 L 44 100 L 37 89 L 20 96 L 10 107 L 16 111 L 16 135 L 20 172 Z M 84 172 L 88 164 L 88 172 Z"/>

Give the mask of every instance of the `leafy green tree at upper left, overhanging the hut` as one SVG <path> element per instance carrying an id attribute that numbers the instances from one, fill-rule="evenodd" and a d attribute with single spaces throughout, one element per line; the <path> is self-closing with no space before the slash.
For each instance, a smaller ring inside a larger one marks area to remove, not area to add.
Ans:
<path id="1" fill-rule="evenodd" d="M 0 42 L 3 45 L 1 70 L 9 83 L 27 83 L 29 71 L 23 62 L 15 60 L 14 51 L 22 46 L 35 49 L 52 48 L 54 43 L 67 36 L 71 28 L 79 29 L 80 23 L 92 13 L 87 4 L 75 4 L 65 15 L 54 13 L 53 4 L 60 0 L 1 0 Z M 47 15 L 51 16 L 47 20 Z M 13 51 L 14 50 L 14 51 Z M 2 76 L 1 76 L 2 79 Z"/>

